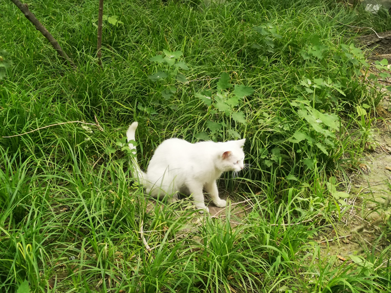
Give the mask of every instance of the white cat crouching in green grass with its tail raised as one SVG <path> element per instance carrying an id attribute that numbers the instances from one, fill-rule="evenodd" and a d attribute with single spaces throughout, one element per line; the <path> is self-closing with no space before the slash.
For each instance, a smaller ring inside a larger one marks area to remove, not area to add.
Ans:
<path id="1" fill-rule="evenodd" d="M 135 131 L 138 126 L 133 122 L 126 133 L 129 147 L 136 153 Z M 223 208 L 225 200 L 218 197 L 216 180 L 223 172 L 239 172 L 244 168 L 242 146 L 245 139 L 225 143 L 199 142 L 191 144 L 185 140 L 171 138 L 165 140 L 155 150 L 147 173 L 141 171 L 136 156 L 132 157 L 132 175 L 139 179 L 146 192 L 153 197 L 163 198 L 172 195 L 170 201 L 178 200 L 178 192 L 193 195 L 195 206 L 209 212 L 205 206 L 203 188 L 209 193 L 213 203 Z"/>

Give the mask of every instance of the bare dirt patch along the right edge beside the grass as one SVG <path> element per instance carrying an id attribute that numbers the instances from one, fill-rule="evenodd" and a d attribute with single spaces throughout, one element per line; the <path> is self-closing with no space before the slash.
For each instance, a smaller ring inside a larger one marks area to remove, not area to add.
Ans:
<path id="1" fill-rule="evenodd" d="M 373 248 L 380 251 L 385 245 L 376 239 L 391 213 L 391 132 L 389 126 L 378 126 L 373 129 L 376 149 L 366 155 L 362 170 L 351 174 L 341 222 L 318 241 L 323 255 L 338 255 L 344 261 L 349 255 Z"/>

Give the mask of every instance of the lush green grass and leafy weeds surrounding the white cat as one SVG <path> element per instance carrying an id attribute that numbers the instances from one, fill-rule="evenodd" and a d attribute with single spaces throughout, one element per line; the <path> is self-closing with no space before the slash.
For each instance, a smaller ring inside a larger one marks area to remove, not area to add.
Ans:
<path id="1" fill-rule="evenodd" d="M 389 30 L 389 15 L 106 1 L 100 67 L 98 1 L 28 4 L 77 69 L 1 3 L 1 292 L 390 292 L 390 246 L 341 262 L 317 241 L 347 210 L 336 178 L 359 165 L 383 93 L 352 41 L 371 30 L 354 27 Z M 223 216 L 149 201 L 130 176 L 132 121 L 142 168 L 170 137 L 246 138 Z"/>

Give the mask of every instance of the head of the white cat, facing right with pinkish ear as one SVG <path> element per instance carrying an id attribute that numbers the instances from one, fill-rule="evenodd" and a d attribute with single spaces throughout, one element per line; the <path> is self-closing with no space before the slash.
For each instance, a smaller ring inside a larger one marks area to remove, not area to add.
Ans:
<path id="1" fill-rule="evenodd" d="M 244 168 L 243 145 L 246 139 L 229 141 L 224 143 L 223 152 L 220 155 L 221 170 L 239 172 Z"/>

